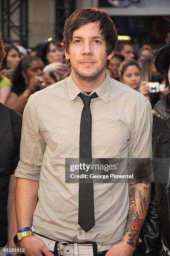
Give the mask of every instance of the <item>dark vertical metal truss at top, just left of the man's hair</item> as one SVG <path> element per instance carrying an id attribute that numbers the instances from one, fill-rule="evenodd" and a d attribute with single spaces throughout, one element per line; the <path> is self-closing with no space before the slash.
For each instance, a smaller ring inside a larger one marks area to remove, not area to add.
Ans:
<path id="1" fill-rule="evenodd" d="M 66 19 L 71 15 L 75 10 L 75 0 L 56 0 L 56 17 L 55 17 L 55 31 L 56 39 L 59 41 L 63 37 L 63 27 Z"/>

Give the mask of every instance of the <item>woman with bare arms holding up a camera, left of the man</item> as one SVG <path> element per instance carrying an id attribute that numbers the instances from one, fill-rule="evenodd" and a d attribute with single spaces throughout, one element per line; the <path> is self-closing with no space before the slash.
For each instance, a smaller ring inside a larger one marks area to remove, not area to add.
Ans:
<path id="1" fill-rule="evenodd" d="M 39 89 L 42 75 L 43 72 L 37 57 L 26 56 L 20 60 L 13 74 L 13 87 L 5 104 L 18 113 L 23 113 L 28 97 Z"/>

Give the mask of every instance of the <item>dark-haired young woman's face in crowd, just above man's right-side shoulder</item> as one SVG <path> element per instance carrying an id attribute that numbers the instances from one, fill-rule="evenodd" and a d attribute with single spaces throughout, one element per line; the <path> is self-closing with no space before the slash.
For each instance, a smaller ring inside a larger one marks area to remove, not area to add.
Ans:
<path id="1" fill-rule="evenodd" d="M 123 61 L 119 67 L 119 78 L 122 83 L 138 90 L 141 79 L 140 64 L 133 59 Z"/>

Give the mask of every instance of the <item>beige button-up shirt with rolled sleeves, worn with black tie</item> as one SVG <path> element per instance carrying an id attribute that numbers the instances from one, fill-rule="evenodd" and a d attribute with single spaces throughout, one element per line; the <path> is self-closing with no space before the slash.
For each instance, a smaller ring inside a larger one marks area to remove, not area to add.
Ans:
<path id="1" fill-rule="evenodd" d="M 36 233 L 56 241 L 112 244 L 124 235 L 128 184 L 94 183 L 95 226 L 86 233 L 78 225 L 79 184 L 65 183 L 65 158 L 79 158 L 84 107 L 80 92 L 70 75 L 30 96 L 23 115 L 15 177 L 39 181 L 33 215 Z M 150 158 L 150 102 L 108 74 L 95 92 L 99 97 L 90 105 L 92 157 Z"/>

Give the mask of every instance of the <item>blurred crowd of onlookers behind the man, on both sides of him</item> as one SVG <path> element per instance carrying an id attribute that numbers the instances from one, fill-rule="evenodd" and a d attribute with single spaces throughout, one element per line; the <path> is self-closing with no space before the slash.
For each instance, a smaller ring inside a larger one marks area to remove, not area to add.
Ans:
<path id="1" fill-rule="evenodd" d="M 71 68 L 66 66 L 62 43 L 50 38 L 32 49 L 18 43 L 5 44 L 6 56 L 0 71 L 0 102 L 23 113 L 31 94 L 68 77 Z M 157 72 L 154 59 L 157 50 L 150 45 L 142 46 L 135 54 L 130 41 L 118 41 L 107 72 L 116 79 L 147 97 L 152 105 L 168 90 L 152 90 L 149 82 L 165 84 Z M 153 110 L 153 115 L 155 114 Z"/>

